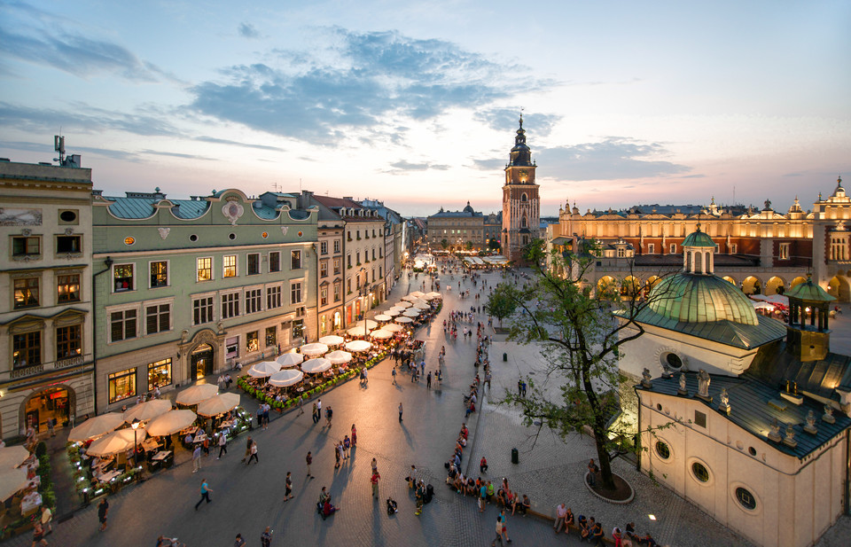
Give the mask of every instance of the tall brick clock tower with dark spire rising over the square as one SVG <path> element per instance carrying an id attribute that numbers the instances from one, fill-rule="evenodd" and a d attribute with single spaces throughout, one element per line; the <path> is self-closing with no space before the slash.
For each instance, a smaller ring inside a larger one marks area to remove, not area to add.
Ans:
<path id="1" fill-rule="evenodd" d="M 526 144 L 526 130 L 520 115 L 520 129 L 514 137 L 511 160 L 505 166 L 503 186 L 503 231 L 501 243 L 508 260 L 523 262 L 523 246 L 539 238 L 541 200 L 535 184 L 535 162 Z"/>

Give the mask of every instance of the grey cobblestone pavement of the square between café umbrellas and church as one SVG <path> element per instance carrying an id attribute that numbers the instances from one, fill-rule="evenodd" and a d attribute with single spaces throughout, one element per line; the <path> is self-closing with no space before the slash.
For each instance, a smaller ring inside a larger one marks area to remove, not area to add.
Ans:
<path id="1" fill-rule="evenodd" d="M 488 276 L 494 284 L 499 276 Z M 410 284 L 417 290 L 419 281 Z M 449 280 L 447 280 L 449 281 Z M 445 287 L 447 282 L 441 280 Z M 469 284 L 468 284 L 469 285 Z M 409 284 L 403 275 L 394 287 L 390 299 L 379 309 L 408 292 Z M 474 292 L 474 291 L 473 291 Z M 480 301 L 482 305 L 484 301 Z M 451 309 L 468 309 L 471 300 L 458 300 L 457 276 L 452 291 L 446 293 L 444 308 L 430 329 L 423 328 L 418 338 L 427 340 L 426 371 L 437 368 L 437 352 L 445 343 L 442 320 Z M 482 316 L 484 319 L 484 316 Z M 501 387 L 516 388 L 518 372 L 532 366 L 538 359 L 534 348 L 500 346 L 491 350 L 495 363 L 494 391 Z M 312 423 L 308 412 L 301 417 L 290 412 L 273 418 L 267 431 L 254 430 L 260 463 L 246 467 L 240 464 L 245 435 L 238 437 L 229 454 L 222 460 L 213 456 L 202 462 L 199 474 L 191 473 L 191 464 L 179 459 L 176 467 L 157 473 L 148 481 L 125 488 L 110 497 L 109 527 L 98 532 L 97 506 L 73 513 L 73 517 L 56 523 L 47 539 L 51 545 L 75 546 L 137 546 L 152 545 L 160 534 L 177 536 L 189 547 L 230 546 L 237 533 L 246 537 L 249 545 L 257 542 L 262 529 L 275 530 L 273 545 L 405 545 L 405 546 L 486 546 L 493 540 L 496 508 L 488 506 L 480 514 L 471 498 L 452 493 L 443 484 L 443 467 L 454 446 L 457 431 L 464 421 L 462 395 L 475 370 L 474 341 L 457 340 L 445 343 L 447 361 L 441 388 L 426 389 L 424 381 L 414 384 L 407 374 L 391 383 L 392 363 L 379 364 L 370 372 L 369 385 L 361 387 L 355 381 L 337 387 L 322 396 L 323 405 L 334 409 L 330 430 L 323 427 L 324 419 Z M 512 361 L 502 363 L 502 350 Z M 509 351 L 509 349 L 511 349 Z M 497 358 L 498 356 L 498 358 Z M 434 387 L 437 387 L 434 385 Z M 243 396 L 246 410 L 254 410 L 253 400 Z M 397 407 L 404 406 L 402 424 Z M 358 431 L 358 446 L 350 460 L 340 470 L 334 470 L 333 443 L 350 433 L 352 423 Z M 587 437 L 572 436 L 562 442 L 551 434 L 538 438 L 530 450 L 529 430 L 521 426 L 516 411 L 487 403 L 480 415 L 473 414 L 468 422 L 472 446 L 466 452 L 465 465 L 473 476 L 480 455 L 488 456 L 488 478 L 506 476 L 512 489 L 528 494 L 536 511 L 553 512 L 562 500 L 573 505 L 574 512 L 592 514 L 605 524 L 606 534 L 615 525 L 636 520 L 639 530 L 649 529 L 672 545 L 742 545 L 741 538 L 709 519 L 704 513 L 686 504 L 666 488 L 654 487 L 651 481 L 636 473 L 634 467 L 616 460 L 614 468 L 636 487 L 636 501 L 620 506 L 605 504 L 582 488 L 582 472 L 593 447 Z M 510 451 L 520 449 L 519 465 L 511 465 Z M 314 453 L 313 473 L 308 479 L 304 456 Z M 370 487 L 370 462 L 379 463 L 381 482 L 379 500 L 373 501 Z M 414 502 L 404 477 L 411 464 L 418 467 L 418 477 L 434 486 L 435 499 L 426 505 L 419 517 L 413 514 Z M 295 498 L 283 502 L 284 478 L 293 472 Z M 193 505 L 199 499 L 199 482 L 207 478 L 213 488 L 211 504 L 196 512 Z M 332 493 L 340 513 L 322 520 L 315 510 L 316 498 L 322 486 Z M 398 514 L 388 517 L 385 499 L 393 496 L 399 503 Z M 648 520 L 649 514 L 657 517 Z M 574 536 L 555 536 L 551 523 L 535 517 L 511 517 L 509 536 L 513 545 L 573 545 Z M 839 537 L 847 540 L 848 520 L 831 528 L 820 545 L 833 547 Z M 844 531 L 844 532 L 843 532 Z M 839 535 L 839 532 L 842 532 Z M 28 535 L 12 538 L 6 545 L 29 545 Z"/>

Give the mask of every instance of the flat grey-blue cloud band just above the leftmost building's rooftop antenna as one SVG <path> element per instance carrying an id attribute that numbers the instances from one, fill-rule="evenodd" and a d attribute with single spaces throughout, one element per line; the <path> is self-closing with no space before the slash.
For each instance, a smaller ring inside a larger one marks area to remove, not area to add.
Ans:
<path id="1" fill-rule="evenodd" d="M 179 135 L 175 126 L 157 115 L 114 112 L 84 104 L 72 104 L 66 110 L 54 110 L 0 102 L 0 126 L 49 135 L 59 127 L 66 131 L 66 135 L 106 130 L 125 131 L 144 137 Z"/>

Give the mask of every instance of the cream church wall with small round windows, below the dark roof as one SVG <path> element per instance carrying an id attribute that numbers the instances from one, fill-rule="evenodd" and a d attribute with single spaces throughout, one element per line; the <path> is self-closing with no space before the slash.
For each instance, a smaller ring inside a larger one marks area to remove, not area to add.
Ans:
<path id="1" fill-rule="evenodd" d="M 730 422 L 703 402 L 639 390 L 640 427 L 658 427 L 672 419 L 693 420 L 695 410 L 707 415 L 707 427 L 676 425 L 643 434 L 641 457 L 644 473 L 696 504 L 723 526 L 766 547 L 808 547 L 824 534 L 842 512 L 845 437 L 824 447 L 819 455 L 799 460 L 774 449 Z M 733 412 L 736 402 L 731 401 Z M 655 444 L 666 442 L 671 456 L 662 460 Z M 754 450 L 752 455 L 749 449 Z M 710 473 L 701 483 L 691 473 L 699 462 Z M 736 488 L 746 488 L 756 499 L 756 509 L 745 509 Z"/>

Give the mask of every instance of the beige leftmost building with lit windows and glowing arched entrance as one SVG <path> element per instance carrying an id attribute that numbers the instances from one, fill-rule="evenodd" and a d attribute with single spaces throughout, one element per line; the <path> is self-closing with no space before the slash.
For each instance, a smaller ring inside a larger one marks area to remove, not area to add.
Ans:
<path id="1" fill-rule="evenodd" d="M 91 169 L 79 165 L 0 161 L 3 439 L 95 410 Z"/>

